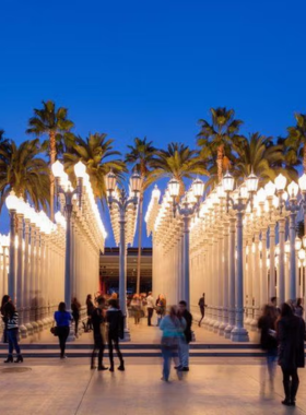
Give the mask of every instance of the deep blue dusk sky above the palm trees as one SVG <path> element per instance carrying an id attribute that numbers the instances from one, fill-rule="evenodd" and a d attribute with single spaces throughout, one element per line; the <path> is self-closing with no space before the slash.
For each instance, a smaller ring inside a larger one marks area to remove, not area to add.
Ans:
<path id="1" fill-rule="evenodd" d="M 122 153 L 144 135 L 193 147 L 211 107 L 274 137 L 306 111 L 304 0 L 2 0 L 0 15 L 0 128 L 16 142 L 43 99 Z"/>

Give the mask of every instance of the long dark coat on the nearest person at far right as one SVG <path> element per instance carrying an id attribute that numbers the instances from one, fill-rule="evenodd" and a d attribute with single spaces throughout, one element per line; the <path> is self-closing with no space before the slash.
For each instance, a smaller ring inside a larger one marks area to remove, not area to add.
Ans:
<path id="1" fill-rule="evenodd" d="M 278 322 L 279 365 L 286 370 L 305 366 L 305 322 L 299 317 L 283 317 Z"/>

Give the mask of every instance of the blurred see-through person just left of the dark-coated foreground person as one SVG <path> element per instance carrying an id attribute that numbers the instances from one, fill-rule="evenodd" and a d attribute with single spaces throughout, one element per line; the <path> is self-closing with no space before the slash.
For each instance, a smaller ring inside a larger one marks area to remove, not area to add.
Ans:
<path id="1" fill-rule="evenodd" d="M 266 352 L 267 368 L 269 374 L 270 389 L 274 389 L 274 377 L 276 369 L 278 358 L 278 340 L 275 331 L 276 317 L 274 309 L 266 305 L 262 310 L 262 316 L 258 320 L 258 329 L 260 334 L 260 346 Z M 266 368 L 263 367 L 262 376 L 262 392 L 264 392 L 266 386 Z"/>

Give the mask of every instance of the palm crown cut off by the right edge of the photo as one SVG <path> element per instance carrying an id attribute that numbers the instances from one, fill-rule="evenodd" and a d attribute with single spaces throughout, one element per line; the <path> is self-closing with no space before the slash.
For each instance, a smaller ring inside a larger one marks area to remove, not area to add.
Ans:
<path id="1" fill-rule="evenodd" d="M 306 173 L 306 114 L 296 112 L 294 117 L 296 126 L 287 128 L 287 138 L 285 140 L 285 145 L 289 149 L 287 158 L 293 165 L 303 159 L 303 169 Z"/>

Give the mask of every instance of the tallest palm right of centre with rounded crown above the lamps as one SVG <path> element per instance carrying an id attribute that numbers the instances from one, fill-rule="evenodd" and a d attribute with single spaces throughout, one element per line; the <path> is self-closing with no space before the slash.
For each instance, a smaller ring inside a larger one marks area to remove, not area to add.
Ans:
<path id="1" fill-rule="evenodd" d="M 200 119 L 201 131 L 198 134 L 198 145 L 201 147 L 201 157 L 211 161 L 210 166 L 216 164 L 217 180 L 222 180 L 224 157 L 231 161 L 233 140 L 238 140 L 242 120 L 235 119 L 234 109 L 225 107 L 211 108 L 211 122 Z"/>

